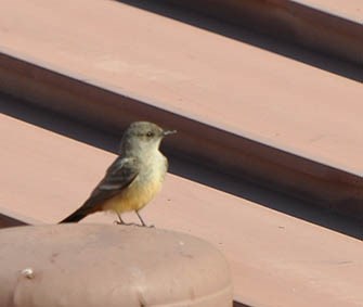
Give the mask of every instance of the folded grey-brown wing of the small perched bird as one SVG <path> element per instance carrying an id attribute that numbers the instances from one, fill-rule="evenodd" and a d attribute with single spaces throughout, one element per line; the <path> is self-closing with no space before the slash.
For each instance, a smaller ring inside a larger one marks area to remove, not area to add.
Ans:
<path id="1" fill-rule="evenodd" d="M 135 157 L 118 157 L 108 167 L 105 177 L 92 191 L 85 206 L 101 204 L 128 187 L 139 175 Z"/>

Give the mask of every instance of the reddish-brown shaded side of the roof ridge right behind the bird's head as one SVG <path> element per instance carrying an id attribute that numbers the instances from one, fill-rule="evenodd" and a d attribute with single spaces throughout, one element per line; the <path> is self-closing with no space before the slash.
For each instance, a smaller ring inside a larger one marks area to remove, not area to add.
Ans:
<path id="1" fill-rule="evenodd" d="M 129 123 L 139 118 L 172 127 L 179 131 L 166 143 L 172 155 L 363 218 L 363 178 L 358 174 L 286 152 L 263 143 L 264 140 L 211 127 L 4 53 L 0 54 L 0 77 L 3 92 L 104 131 L 119 131 L 119 137 Z"/>

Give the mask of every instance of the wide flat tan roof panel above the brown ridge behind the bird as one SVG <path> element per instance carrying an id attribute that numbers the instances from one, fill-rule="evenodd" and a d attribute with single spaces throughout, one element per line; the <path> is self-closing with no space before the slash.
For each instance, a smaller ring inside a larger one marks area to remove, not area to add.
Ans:
<path id="1" fill-rule="evenodd" d="M 72 10 L 66 1 L 39 3 L 3 5 L 2 48 L 210 125 L 362 171 L 359 82 L 116 1 L 78 0 Z M 20 20 L 29 22 L 14 22 Z"/>

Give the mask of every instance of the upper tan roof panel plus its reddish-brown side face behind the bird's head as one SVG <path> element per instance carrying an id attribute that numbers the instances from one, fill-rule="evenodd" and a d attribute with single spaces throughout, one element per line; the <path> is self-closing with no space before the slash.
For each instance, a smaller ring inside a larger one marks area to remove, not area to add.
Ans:
<path id="1" fill-rule="evenodd" d="M 116 136 L 157 121 L 180 131 L 173 155 L 362 216 L 361 85 L 120 2 L 17 1 L 1 91 Z"/>

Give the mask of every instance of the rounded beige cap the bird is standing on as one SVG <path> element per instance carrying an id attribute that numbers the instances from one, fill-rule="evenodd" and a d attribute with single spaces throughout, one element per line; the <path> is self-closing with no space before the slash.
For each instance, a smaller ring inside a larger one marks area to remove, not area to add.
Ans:
<path id="1" fill-rule="evenodd" d="M 0 231 L 0 306 L 232 306 L 230 270 L 209 243 L 130 226 Z"/>

